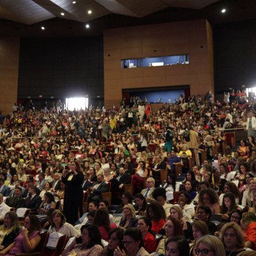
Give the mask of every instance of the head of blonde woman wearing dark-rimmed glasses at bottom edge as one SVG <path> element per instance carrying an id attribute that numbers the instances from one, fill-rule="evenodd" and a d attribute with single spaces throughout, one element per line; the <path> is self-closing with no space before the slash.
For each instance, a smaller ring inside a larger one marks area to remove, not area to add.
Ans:
<path id="1" fill-rule="evenodd" d="M 225 248 L 216 236 L 203 236 L 196 241 L 196 256 L 225 256 Z M 231 256 L 231 255 L 230 255 Z"/>

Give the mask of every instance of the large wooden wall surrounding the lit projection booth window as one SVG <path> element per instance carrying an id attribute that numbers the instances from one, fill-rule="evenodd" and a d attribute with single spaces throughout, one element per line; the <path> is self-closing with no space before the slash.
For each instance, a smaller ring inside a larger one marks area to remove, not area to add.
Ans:
<path id="1" fill-rule="evenodd" d="M 120 65 L 122 59 L 179 54 L 189 54 L 188 65 L 127 69 Z M 189 84 L 192 94 L 214 93 L 212 56 L 212 32 L 207 20 L 108 29 L 104 31 L 105 106 L 119 104 L 122 89 L 127 88 Z"/>

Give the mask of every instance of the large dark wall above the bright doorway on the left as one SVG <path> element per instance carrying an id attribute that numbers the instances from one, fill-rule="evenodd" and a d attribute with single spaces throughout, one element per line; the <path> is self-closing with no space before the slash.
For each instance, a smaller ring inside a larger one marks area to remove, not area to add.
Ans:
<path id="1" fill-rule="evenodd" d="M 18 99 L 104 95 L 103 38 L 21 38 Z M 97 100 L 96 100 L 97 101 Z"/>

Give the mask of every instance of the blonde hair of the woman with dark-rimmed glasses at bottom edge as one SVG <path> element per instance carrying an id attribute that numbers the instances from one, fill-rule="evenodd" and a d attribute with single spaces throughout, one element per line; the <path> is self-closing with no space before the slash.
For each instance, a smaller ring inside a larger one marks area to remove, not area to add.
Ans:
<path id="1" fill-rule="evenodd" d="M 226 256 L 225 248 L 218 237 L 211 235 L 201 237 L 196 241 L 196 249 L 200 243 L 204 243 L 205 245 L 209 246 L 209 248 L 215 252 L 215 255 Z"/>

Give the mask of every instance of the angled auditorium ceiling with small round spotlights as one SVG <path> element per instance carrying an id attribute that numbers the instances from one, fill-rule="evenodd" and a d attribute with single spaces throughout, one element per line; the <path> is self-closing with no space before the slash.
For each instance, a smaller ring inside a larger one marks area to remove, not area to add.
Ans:
<path id="1" fill-rule="evenodd" d="M 220 12 L 223 8 L 226 13 Z M 2 36 L 95 36 L 123 26 L 190 19 L 221 24 L 255 18 L 255 0 L 0 0 Z"/>

